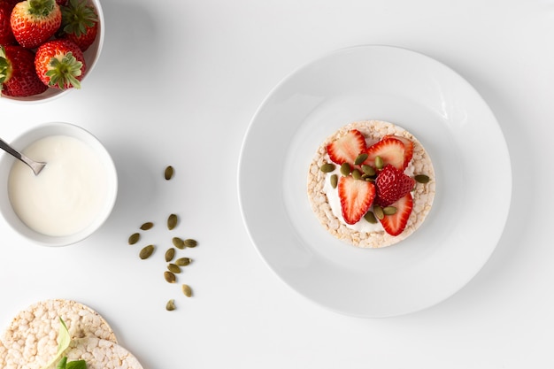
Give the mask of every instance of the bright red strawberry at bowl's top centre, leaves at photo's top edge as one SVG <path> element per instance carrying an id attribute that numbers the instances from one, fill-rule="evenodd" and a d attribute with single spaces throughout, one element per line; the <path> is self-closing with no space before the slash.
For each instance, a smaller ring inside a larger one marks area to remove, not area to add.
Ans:
<path id="1" fill-rule="evenodd" d="M 10 23 L 19 44 L 35 49 L 58 31 L 62 12 L 54 0 L 25 0 L 16 4 Z"/>

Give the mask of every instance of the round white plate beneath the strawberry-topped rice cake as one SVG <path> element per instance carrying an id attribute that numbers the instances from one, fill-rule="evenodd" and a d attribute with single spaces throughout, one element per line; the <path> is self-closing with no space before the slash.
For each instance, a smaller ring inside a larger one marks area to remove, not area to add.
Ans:
<path id="1" fill-rule="evenodd" d="M 425 223 L 385 249 L 327 234 L 306 195 L 320 142 L 359 119 L 406 128 L 435 166 Z M 437 304 L 479 272 L 504 229 L 512 172 L 495 117 L 458 73 L 411 50 L 360 46 L 304 65 L 265 98 L 242 143 L 238 192 L 252 242 L 283 281 L 332 311 L 376 318 Z"/>

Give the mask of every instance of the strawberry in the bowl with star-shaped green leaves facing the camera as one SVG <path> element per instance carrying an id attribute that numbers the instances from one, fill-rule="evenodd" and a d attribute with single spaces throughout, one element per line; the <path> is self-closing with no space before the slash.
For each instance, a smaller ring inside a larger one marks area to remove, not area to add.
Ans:
<path id="1" fill-rule="evenodd" d="M 41 81 L 53 88 L 81 88 L 87 71 L 81 49 L 70 40 L 44 42 L 36 50 L 35 70 Z"/>

